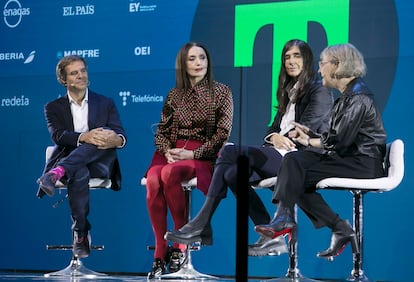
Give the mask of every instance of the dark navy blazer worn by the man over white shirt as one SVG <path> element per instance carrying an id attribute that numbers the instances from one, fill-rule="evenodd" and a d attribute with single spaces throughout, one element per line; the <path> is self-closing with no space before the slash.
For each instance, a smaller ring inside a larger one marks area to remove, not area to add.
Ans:
<path id="1" fill-rule="evenodd" d="M 126 141 L 126 134 L 122 127 L 118 110 L 112 99 L 89 90 L 88 107 L 89 130 L 98 127 L 110 128 L 117 134 L 121 134 Z M 66 157 L 72 150 L 77 148 L 77 142 L 81 133 L 74 131 L 72 112 L 67 95 L 46 104 L 44 114 L 50 136 L 56 144 L 44 168 L 43 173 L 46 173 L 55 167 L 60 159 Z M 111 188 L 115 191 L 120 190 L 121 170 L 118 158 L 115 159 L 110 178 L 112 181 Z M 41 198 L 44 195 L 44 192 L 39 189 L 37 197 Z"/>

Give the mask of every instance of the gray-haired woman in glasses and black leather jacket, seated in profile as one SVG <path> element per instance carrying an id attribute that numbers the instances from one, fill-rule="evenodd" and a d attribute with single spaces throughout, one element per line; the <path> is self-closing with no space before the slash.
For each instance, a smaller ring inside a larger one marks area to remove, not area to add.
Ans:
<path id="1" fill-rule="evenodd" d="M 338 89 L 341 95 L 334 103 L 327 132 L 318 136 L 295 123 L 299 133 L 295 140 L 324 148 L 326 153 L 304 150 L 284 157 L 272 197 L 272 202 L 278 203 L 277 212 L 269 224 L 256 225 L 255 230 L 271 238 L 290 234 L 296 228 L 294 205 L 305 206 L 315 228 L 332 230 L 329 248 L 318 253 L 318 257 L 327 258 L 339 255 L 349 242 L 353 252 L 359 250 L 355 231 L 328 206 L 316 191 L 316 183 L 327 177 L 384 176 L 386 134 L 373 95 L 361 78 L 366 73 L 363 56 L 352 44 L 325 48 L 319 73 L 323 85 Z"/>

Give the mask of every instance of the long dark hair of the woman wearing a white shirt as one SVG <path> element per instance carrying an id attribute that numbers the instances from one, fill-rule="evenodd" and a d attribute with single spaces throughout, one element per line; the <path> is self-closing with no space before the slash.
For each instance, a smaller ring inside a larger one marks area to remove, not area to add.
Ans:
<path id="1" fill-rule="evenodd" d="M 286 71 L 286 52 L 293 46 L 299 48 L 300 54 L 303 58 L 303 69 L 297 78 L 293 78 L 287 74 Z M 286 106 L 289 102 L 289 91 L 298 82 L 298 90 L 296 101 L 299 101 L 306 93 L 307 88 L 315 78 L 315 69 L 313 68 L 313 53 L 310 46 L 302 40 L 293 39 L 286 42 L 282 50 L 281 65 L 279 72 L 279 82 L 276 92 L 276 98 L 278 101 L 277 110 L 284 114 L 286 112 Z"/>

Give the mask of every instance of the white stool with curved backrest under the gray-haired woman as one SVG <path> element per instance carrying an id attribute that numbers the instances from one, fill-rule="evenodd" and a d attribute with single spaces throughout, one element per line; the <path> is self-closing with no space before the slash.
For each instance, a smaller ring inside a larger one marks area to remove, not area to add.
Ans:
<path id="1" fill-rule="evenodd" d="M 404 143 L 397 139 L 387 144 L 384 158 L 387 176 L 375 179 L 326 178 L 316 185 L 319 189 L 347 190 L 353 195 L 353 228 L 357 236 L 359 253 L 353 254 L 350 281 L 369 281 L 362 269 L 364 195 L 368 192 L 387 192 L 396 188 L 404 177 Z M 333 260 L 333 257 L 329 258 Z"/>

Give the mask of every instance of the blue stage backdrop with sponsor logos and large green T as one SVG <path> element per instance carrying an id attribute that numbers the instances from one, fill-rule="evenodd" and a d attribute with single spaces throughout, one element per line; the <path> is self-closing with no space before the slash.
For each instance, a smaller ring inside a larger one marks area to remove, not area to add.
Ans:
<path id="1" fill-rule="evenodd" d="M 363 266 L 374 280 L 410 281 L 414 276 L 414 246 L 409 241 L 414 236 L 409 208 L 414 196 L 409 190 L 414 184 L 409 118 L 414 3 L 0 0 L 0 9 L 0 269 L 48 271 L 63 268 L 69 260 L 68 253 L 45 249 L 47 244 L 71 240 L 67 201 L 52 208 L 64 195 L 35 197 L 45 147 L 51 144 L 43 106 L 65 93 L 55 76 L 56 63 L 63 55 L 80 54 L 87 59 L 90 88 L 114 99 L 129 137 L 119 151 L 122 191 L 91 195 L 93 243 L 104 244 L 105 250 L 92 253 L 84 263 L 98 271 L 145 273 L 153 260 L 152 252 L 146 250 L 153 244 L 153 234 L 140 179 L 154 150 L 154 124 L 175 83 L 178 49 L 189 40 L 208 47 L 216 79 L 233 90 L 230 141 L 261 144 L 274 114 L 272 89 L 280 46 L 297 37 L 310 43 L 316 58 L 327 44 L 339 42 L 353 43 L 366 57 L 366 81 L 383 111 L 388 141 L 401 138 L 406 145 L 406 173 L 393 192 L 366 196 Z M 242 18 L 243 11 L 247 18 Z M 257 30 L 250 30 L 255 25 Z M 270 192 L 259 193 L 273 213 Z M 351 218 L 350 193 L 322 193 L 342 217 Z M 197 210 L 204 199 L 198 191 L 193 194 Z M 193 253 L 198 270 L 235 274 L 235 210 L 235 199 L 229 195 L 213 218 L 214 245 Z M 314 278 L 346 277 L 352 268 L 350 248 L 334 262 L 317 258 L 331 234 L 328 229 L 315 230 L 302 213 L 299 222 L 301 272 Z M 249 241 L 256 238 L 251 225 Z M 287 255 L 252 257 L 248 272 L 276 277 L 284 275 L 287 267 Z"/>

